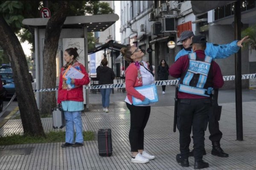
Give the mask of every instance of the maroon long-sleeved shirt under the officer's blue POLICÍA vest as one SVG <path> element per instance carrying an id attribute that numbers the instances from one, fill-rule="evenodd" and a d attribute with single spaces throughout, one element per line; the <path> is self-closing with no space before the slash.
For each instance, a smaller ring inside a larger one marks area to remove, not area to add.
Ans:
<path id="1" fill-rule="evenodd" d="M 198 58 L 203 59 L 205 57 L 204 51 L 202 51 L 202 50 L 196 50 L 195 53 Z M 169 68 L 169 74 L 172 77 L 179 78 L 179 77 L 181 77 L 181 74 L 186 72 L 188 67 L 189 67 L 189 57 L 188 57 L 188 55 L 184 55 L 184 56 L 180 57 L 179 59 L 177 59 L 177 61 L 172 64 L 172 66 Z M 221 74 L 221 69 L 215 61 L 212 61 L 211 67 L 212 68 L 210 69 L 210 71 L 212 71 L 212 73 L 211 73 L 212 77 L 210 77 L 210 78 L 212 79 L 213 88 L 221 88 L 224 85 L 224 80 L 223 80 L 223 76 Z M 179 99 L 207 98 L 205 96 L 199 96 L 199 95 L 188 94 L 188 93 L 183 93 L 183 92 L 178 92 L 177 96 Z"/>

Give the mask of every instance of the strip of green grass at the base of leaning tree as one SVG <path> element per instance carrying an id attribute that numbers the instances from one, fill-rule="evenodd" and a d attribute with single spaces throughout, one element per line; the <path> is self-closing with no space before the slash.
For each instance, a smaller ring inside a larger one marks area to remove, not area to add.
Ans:
<path id="1" fill-rule="evenodd" d="M 83 131 L 84 141 L 94 140 L 93 131 Z M 46 137 L 29 136 L 20 133 L 12 133 L 6 136 L 0 136 L 1 145 L 11 144 L 30 144 L 30 143 L 50 143 L 50 142 L 65 142 L 65 131 L 51 131 L 46 133 Z"/>

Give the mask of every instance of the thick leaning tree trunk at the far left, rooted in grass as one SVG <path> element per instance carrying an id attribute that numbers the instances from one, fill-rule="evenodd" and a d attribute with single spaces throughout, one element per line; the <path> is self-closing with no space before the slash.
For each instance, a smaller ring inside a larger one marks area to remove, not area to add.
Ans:
<path id="1" fill-rule="evenodd" d="M 21 44 L 0 14 L 0 46 L 7 52 L 12 65 L 15 91 L 24 133 L 45 136 L 29 76 L 29 68 Z"/>

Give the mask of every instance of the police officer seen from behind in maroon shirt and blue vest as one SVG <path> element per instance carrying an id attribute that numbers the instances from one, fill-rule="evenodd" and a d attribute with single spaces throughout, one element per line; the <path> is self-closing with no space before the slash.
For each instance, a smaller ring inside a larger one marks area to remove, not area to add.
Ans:
<path id="1" fill-rule="evenodd" d="M 195 169 L 209 167 L 203 161 L 204 130 L 207 129 L 207 116 L 211 107 L 212 88 L 224 85 L 221 69 L 206 56 L 206 37 L 202 35 L 192 38 L 194 53 L 186 54 L 178 59 L 169 69 L 172 77 L 180 78 L 177 93 L 177 128 L 180 132 L 180 154 L 176 160 L 182 167 L 189 167 L 190 133 L 193 133 Z"/>

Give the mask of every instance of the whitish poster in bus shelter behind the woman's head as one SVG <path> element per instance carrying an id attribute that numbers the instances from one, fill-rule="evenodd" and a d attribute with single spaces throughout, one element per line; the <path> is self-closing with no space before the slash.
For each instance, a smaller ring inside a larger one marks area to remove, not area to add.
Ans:
<path id="1" fill-rule="evenodd" d="M 77 58 L 77 61 L 80 62 L 82 65 L 84 65 L 84 38 L 63 38 L 62 39 L 62 49 L 63 54 L 64 51 L 67 48 L 77 48 L 77 53 L 79 57 Z M 63 65 L 65 65 L 66 62 L 63 59 Z M 84 65 L 87 67 L 87 65 Z"/>

